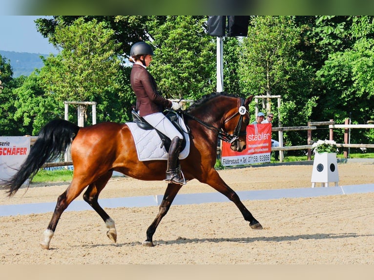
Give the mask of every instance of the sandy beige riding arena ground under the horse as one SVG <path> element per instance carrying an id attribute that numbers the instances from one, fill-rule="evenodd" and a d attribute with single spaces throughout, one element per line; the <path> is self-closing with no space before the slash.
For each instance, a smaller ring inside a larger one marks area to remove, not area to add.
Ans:
<path id="1" fill-rule="evenodd" d="M 339 185 L 374 183 L 372 163 L 338 164 L 338 171 Z M 309 188 L 312 165 L 219 173 L 235 191 Z M 31 184 L 12 198 L 0 190 L 0 204 L 56 201 L 67 186 Z M 165 187 L 164 182 L 117 177 L 100 198 L 162 195 Z M 180 191 L 207 192 L 216 191 L 197 180 Z M 142 241 L 157 206 L 106 209 L 116 222 L 115 244 L 95 212 L 65 212 L 50 250 L 43 250 L 39 242 L 53 209 L 0 217 L 0 264 L 374 264 L 374 193 L 243 203 L 263 230 L 250 229 L 231 202 L 172 205 L 152 248 Z"/>

